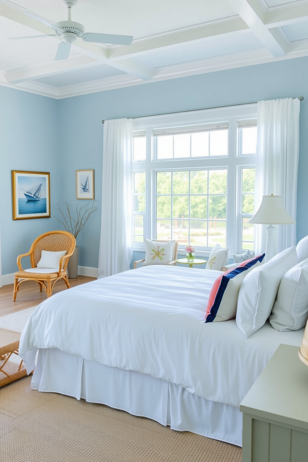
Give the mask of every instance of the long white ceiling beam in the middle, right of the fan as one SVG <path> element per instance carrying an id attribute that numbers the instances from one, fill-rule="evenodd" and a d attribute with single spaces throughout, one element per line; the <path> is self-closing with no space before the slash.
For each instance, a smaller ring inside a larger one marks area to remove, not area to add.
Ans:
<path id="1" fill-rule="evenodd" d="M 198 26 L 175 30 L 154 37 L 134 40 L 129 46 L 109 48 L 107 56 L 109 60 L 127 59 L 144 55 L 157 49 L 174 47 L 183 43 L 202 40 L 207 37 L 228 34 L 247 30 L 248 25 L 239 17 L 232 17 L 218 21 L 212 21 Z"/>

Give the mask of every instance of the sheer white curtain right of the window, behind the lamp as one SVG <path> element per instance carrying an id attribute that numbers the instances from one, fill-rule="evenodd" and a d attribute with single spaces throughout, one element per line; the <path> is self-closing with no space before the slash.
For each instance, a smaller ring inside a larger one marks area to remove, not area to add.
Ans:
<path id="1" fill-rule="evenodd" d="M 255 211 L 263 195 L 280 195 L 296 220 L 299 112 L 298 98 L 258 102 Z M 296 244 L 296 225 L 274 226 L 275 253 Z M 257 255 L 265 251 L 265 225 L 255 225 L 254 245 Z"/>

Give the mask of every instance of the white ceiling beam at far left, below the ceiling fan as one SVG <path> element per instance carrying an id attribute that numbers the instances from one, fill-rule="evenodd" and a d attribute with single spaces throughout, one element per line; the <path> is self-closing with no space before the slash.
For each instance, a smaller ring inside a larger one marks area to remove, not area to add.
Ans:
<path id="1" fill-rule="evenodd" d="M 60 74 L 95 62 L 97 62 L 97 60 L 94 60 L 90 56 L 78 55 L 63 61 L 51 61 L 42 66 L 14 69 L 13 71 L 6 72 L 5 78 L 7 83 L 19 83 L 25 80 L 39 79 L 49 75 Z"/>

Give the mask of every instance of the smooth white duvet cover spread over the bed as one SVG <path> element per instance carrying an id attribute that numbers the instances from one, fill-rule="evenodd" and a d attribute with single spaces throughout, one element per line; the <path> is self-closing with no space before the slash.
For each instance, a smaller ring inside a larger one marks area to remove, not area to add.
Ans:
<path id="1" fill-rule="evenodd" d="M 245 339 L 235 320 L 205 324 L 213 270 L 148 266 L 54 294 L 25 326 L 27 371 L 39 348 L 149 374 L 207 400 L 239 406 L 280 343 L 299 346 L 303 329 L 269 323 Z"/>

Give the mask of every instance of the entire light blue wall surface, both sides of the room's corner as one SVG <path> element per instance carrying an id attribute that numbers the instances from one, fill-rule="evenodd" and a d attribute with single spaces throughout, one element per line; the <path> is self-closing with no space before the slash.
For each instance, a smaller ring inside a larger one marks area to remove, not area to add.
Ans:
<path id="1" fill-rule="evenodd" d="M 308 234 L 308 57 L 136 85 L 61 100 L 0 86 L 2 274 L 42 232 L 59 229 L 57 202 L 76 201 L 76 170 L 95 170 L 98 210 L 80 233 L 79 265 L 97 267 L 101 227 L 102 119 L 140 117 L 282 97 L 303 96 L 297 190 L 297 238 Z M 59 137 L 59 138 L 58 138 Z M 11 170 L 49 171 L 50 219 L 12 221 Z M 4 191 L 4 192 L 3 192 Z M 133 259 L 142 255 L 136 254 Z"/>

